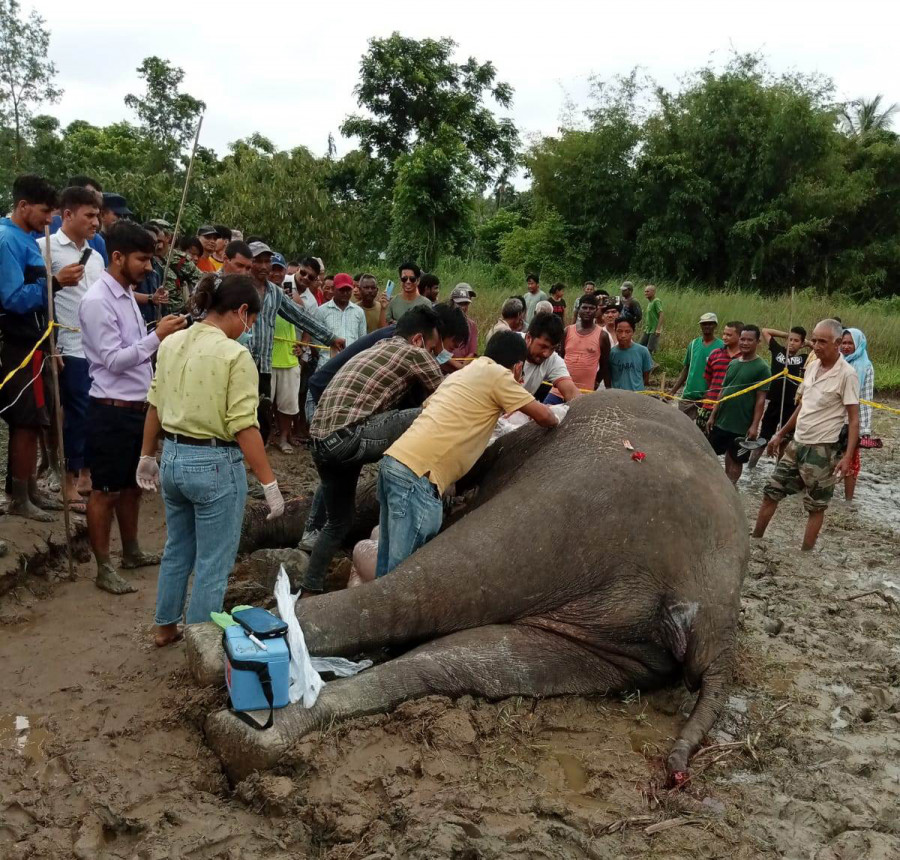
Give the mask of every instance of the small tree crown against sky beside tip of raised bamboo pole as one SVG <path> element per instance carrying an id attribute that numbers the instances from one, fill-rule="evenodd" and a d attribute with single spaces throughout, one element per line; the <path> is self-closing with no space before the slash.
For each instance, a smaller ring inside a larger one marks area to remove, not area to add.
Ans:
<path id="1" fill-rule="evenodd" d="M 147 57 L 137 73 L 144 80 L 146 92 L 143 96 L 125 96 L 126 106 L 137 114 L 141 126 L 161 149 L 180 151 L 193 138 L 206 104 L 179 91 L 184 71 L 168 60 Z"/>

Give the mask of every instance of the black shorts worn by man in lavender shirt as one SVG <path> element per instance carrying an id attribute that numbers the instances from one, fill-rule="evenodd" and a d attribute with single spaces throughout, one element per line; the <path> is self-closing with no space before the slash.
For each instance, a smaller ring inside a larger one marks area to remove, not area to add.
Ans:
<path id="1" fill-rule="evenodd" d="M 87 412 L 85 462 L 101 493 L 137 487 L 135 474 L 144 440 L 144 413 L 91 399 Z"/>

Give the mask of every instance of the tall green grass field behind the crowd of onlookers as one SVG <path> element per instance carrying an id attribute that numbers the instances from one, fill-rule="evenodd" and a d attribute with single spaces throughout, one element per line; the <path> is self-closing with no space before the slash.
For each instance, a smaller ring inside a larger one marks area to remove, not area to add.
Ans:
<path id="1" fill-rule="evenodd" d="M 352 267 L 351 267 L 352 268 Z M 355 272 L 355 270 L 354 270 Z M 373 272 L 382 286 L 387 279 L 398 281 L 395 270 L 379 267 Z M 437 271 L 441 279 L 441 298 L 446 300 L 457 283 L 465 282 L 478 294 L 470 313 L 478 324 L 481 346 L 483 336 L 500 316 L 500 306 L 511 295 L 521 295 L 524 279 L 517 280 L 502 267 L 487 263 L 449 260 Z M 646 281 L 633 277 L 635 297 L 643 307 Z M 618 295 L 621 280 L 597 282 L 598 289 Z M 669 378 L 681 369 L 688 343 L 700 333 L 698 320 L 708 311 L 719 317 L 720 330 L 730 320 L 755 323 L 760 328 L 786 331 L 802 325 L 808 331 L 822 319 L 839 317 L 845 326 L 862 329 L 869 342 L 869 356 L 875 364 L 875 387 L 879 391 L 900 391 L 900 306 L 896 301 L 857 305 L 840 296 L 824 296 L 810 291 L 797 292 L 793 304 L 790 294 L 763 296 L 738 290 L 706 290 L 657 281 L 657 295 L 663 303 L 663 335 L 656 360 Z M 550 284 L 542 284 L 547 292 Z M 398 287 L 399 289 L 399 287 Z M 566 288 L 566 322 L 572 321 L 572 309 L 581 285 Z M 768 357 L 767 353 L 764 353 Z"/>

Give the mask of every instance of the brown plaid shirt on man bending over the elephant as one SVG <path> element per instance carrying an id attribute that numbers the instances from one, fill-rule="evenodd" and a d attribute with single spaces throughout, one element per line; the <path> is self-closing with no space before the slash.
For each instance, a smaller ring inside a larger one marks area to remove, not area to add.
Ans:
<path id="1" fill-rule="evenodd" d="M 351 358 L 322 393 L 310 435 L 325 439 L 395 406 L 414 383 L 427 394 L 444 375 L 434 356 L 402 337 L 379 341 Z"/>

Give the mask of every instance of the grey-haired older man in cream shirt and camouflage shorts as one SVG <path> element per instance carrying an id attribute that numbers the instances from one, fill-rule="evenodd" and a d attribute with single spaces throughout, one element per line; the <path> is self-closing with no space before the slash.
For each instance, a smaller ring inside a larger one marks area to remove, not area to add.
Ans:
<path id="1" fill-rule="evenodd" d="M 761 538 L 766 533 L 780 501 L 802 492 L 803 507 L 809 515 L 802 548 L 811 550 L 835 484 L 850 470 L 859 442 L 859 377 L 840 353 L 843 332 L 837 320 L 823 320 L 813 330 L 817 360 L 807 366 L 798 391 L 800 405 L 769 441 L 768 454 L 774 457 L 796 428 L 763 490 L 753 537 Z"/>

